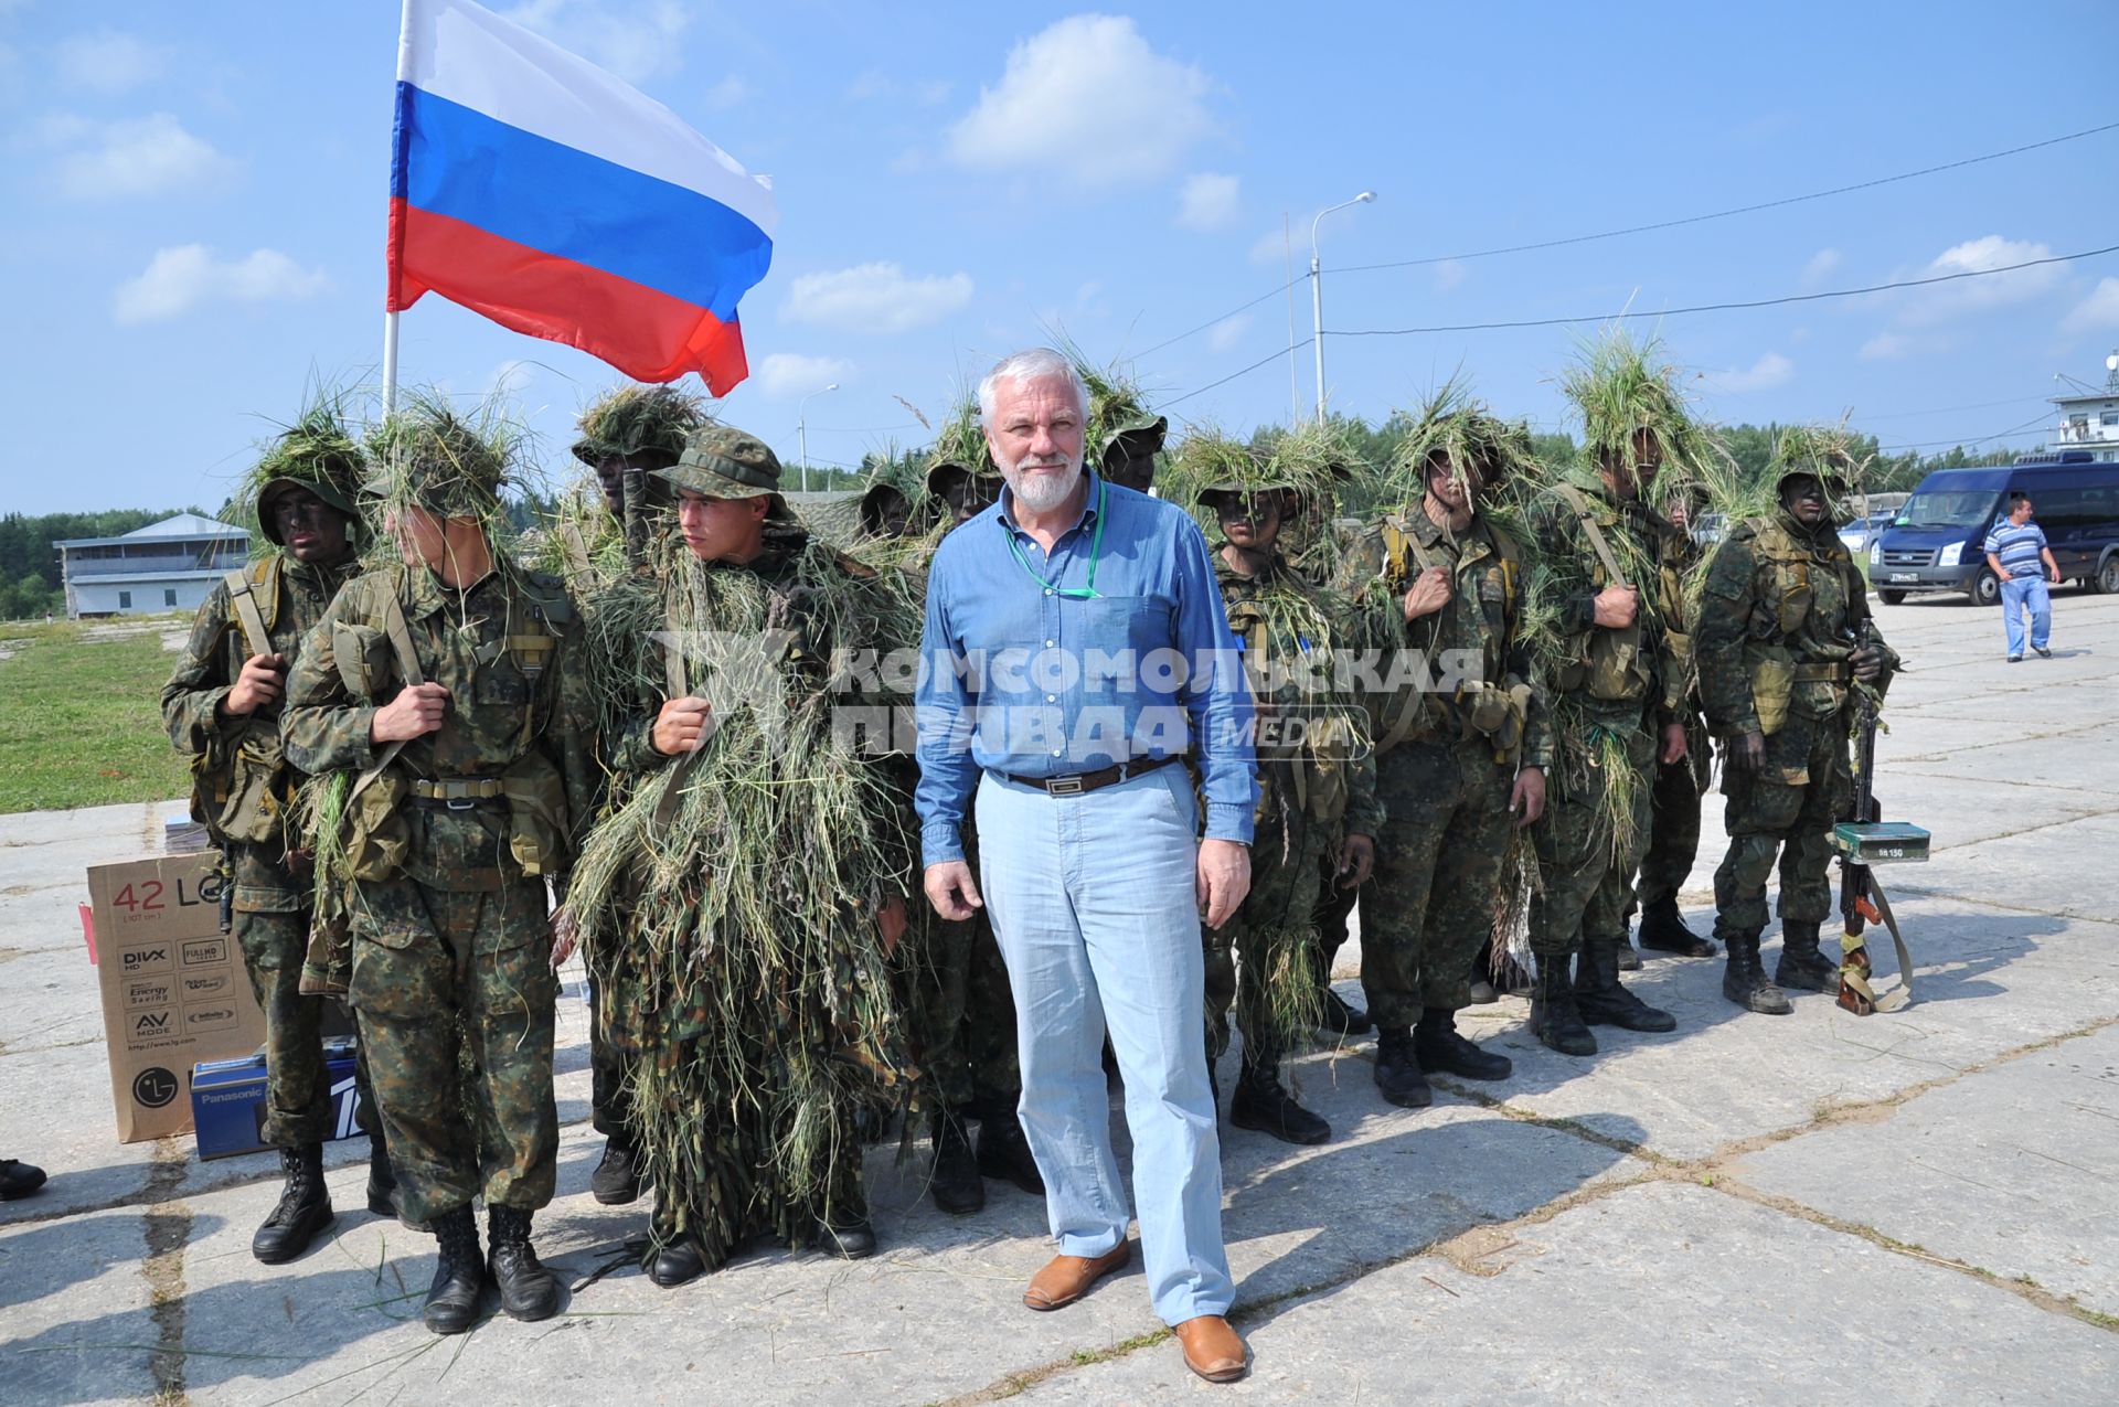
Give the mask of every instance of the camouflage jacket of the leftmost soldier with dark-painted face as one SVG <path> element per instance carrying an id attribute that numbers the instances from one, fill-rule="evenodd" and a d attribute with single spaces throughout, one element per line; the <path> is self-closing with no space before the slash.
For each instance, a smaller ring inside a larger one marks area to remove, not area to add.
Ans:
<path id="1" fill-rule="evenodd" d="M 244 568 L 271 640 L 271 653 L 292 665 L 309 627 L 331 598 L 358 572 L 348 557 L 333 566 L 305 566 L 292 557 L 261 557 Z M 229 843 L 235 907 L 250 913 L 297 913 L 309 907 L 309 886 L 286 865 L 286 807 L 297 778 L 280 750 L 282 699 L 246 718 L 229 718 L 220 701 L 244 672 L 252 648 L 229 595 L 216 581 L 191 621 L 184 657 L 161 691 L 161 720 L 176 750 L 193 767 L 193 820 Z"/>

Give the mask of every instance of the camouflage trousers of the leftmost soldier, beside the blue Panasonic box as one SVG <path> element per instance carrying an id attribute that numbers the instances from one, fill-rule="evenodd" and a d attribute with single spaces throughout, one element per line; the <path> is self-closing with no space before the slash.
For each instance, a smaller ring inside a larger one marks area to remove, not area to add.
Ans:
<path id="1" fill-rule="evenodd" d="M 259 1136 L 273 1148 L 299 1148 L 339 1136 L 324 1064 L 324 996 L 301 994 L 301 960 L 309 951 L 309 913 L 235 911 L 235 945 L 250 973 L 250 994 L 265 1013 L 265 1123 Z M 354 1059 L 360 1127 L 373 1134 L 375 1089 L 369 1085 L 369 1047 Z"/>

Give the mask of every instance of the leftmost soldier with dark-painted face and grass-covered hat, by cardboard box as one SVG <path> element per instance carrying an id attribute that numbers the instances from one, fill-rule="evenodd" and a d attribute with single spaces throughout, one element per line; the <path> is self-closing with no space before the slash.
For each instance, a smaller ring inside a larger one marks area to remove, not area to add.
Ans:
<path id="1" fill-rule="evenodd" d="M 297 773 L 280 746 L 282 687 L 303 636 L 358 574 L 364 528 L 356 506 L 360 447 L 339 407 L 320 398 L 271 441 L 244 481 L 259 519 L 250 566 L 214 583 L 184 655 L 161 691 L 161 716 L 191 756 L 191 814 L 220 843 L 235 888 L 233 937 L 265 1013 L 265 1121 L 286 1189 L 250 1250 L 278 1265 L 331 1225 L 324 1142 L 337 1136 L 324 1064 L 322 994 L 305 994 L 314 894 L 307 856 L 290 833 Z M 362 1047 L 354 1068 L 369 1132 L 369 1210 L 392 1214 L 396 1182 L 375 1117 Z"/>

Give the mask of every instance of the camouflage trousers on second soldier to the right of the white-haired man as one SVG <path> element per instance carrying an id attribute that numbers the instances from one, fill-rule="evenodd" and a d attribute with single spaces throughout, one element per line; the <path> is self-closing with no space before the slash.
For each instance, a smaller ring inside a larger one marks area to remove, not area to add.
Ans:
<path id="1" fill-rule="evenodd" d="M 1360 894 L 1360 985 L 1379 1030 L 1471 1004 L 1473 958 L 1494 932 L 1515 771 L 1494 746 L 1407 742 L 1377 761 L 1384 833 Z"/>

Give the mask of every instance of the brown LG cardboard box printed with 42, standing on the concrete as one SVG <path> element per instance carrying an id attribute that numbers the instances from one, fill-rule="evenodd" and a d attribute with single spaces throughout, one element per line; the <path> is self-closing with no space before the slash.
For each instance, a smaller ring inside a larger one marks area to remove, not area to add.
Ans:
<path id="1" fill-rule="evenodd" d="M 119 1142 L 189 1134 L 191 1068 L 265 1043 L 244 958 L 220 932 L 216 860 L 206 852 L 89 869 Z"/>

